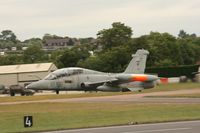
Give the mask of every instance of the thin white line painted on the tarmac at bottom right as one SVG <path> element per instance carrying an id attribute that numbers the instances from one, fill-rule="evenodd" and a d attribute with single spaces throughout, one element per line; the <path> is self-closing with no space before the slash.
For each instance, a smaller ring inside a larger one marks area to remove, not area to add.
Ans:
<path id="1" fill-rule="evenodd" d="M 192 128 L 172 128 L 172 129 L 144 130 L 144 131 L 123 132 L 123 133 L 152 133 L 152 132 L 178 131 L 178 130 L 189 130 L 189 129 L 192 129 Z"/>

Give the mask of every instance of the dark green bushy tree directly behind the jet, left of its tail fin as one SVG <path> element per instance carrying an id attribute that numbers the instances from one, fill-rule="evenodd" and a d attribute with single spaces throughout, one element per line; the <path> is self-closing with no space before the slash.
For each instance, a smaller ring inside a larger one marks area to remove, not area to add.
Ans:
<path id="1" fill-rule="evenodd" d="M 98 56 L 79 62 L 79 66 L 103 72 L 122 72 L 131 59 L 126 47 L 114 47 Z"/>

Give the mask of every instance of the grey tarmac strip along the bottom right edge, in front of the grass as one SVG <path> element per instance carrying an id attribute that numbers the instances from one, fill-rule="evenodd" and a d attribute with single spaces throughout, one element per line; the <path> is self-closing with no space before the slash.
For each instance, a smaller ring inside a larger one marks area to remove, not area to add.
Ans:
<path id="1" fill-rule="evenodd" d="M 43 133 L 199 133 L 200 121 L 112 126 L 74 130 L 60 130 Z"/>

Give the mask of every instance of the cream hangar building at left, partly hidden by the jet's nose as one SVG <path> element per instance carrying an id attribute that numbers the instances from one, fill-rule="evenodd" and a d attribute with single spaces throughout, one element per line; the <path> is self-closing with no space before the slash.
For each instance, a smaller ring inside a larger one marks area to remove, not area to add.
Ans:
<path id="1" fill-rule="evenodd" d="M 19 64 L 0 66 L 0 84 L 22 85 L 44 78 L 57 70 L 53 63 Z"/>

